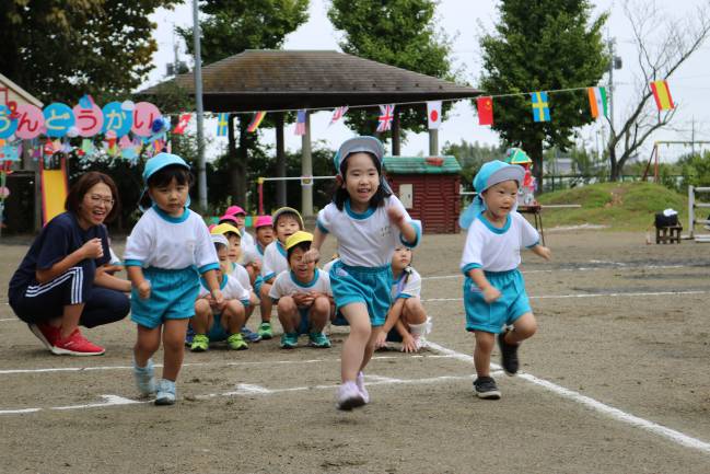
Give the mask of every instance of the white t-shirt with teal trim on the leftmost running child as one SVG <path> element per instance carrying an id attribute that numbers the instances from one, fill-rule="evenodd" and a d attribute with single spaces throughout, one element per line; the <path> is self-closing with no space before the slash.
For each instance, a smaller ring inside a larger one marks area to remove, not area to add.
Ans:
<path id="1" fill-rule="evenodd" d="M 200 273 L 219 268 L 214 244 L 202 218 L 189 209 L 174 218 L 151 207 L 130 232 L 126 265 L 163 269 L 196 266 Z"/>

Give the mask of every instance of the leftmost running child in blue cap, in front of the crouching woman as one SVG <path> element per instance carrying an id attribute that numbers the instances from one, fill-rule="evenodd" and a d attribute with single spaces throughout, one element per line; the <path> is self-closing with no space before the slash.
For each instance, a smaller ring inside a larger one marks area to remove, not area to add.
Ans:
<path id="1" fill-rule="evenodd" d="M 155 391 L 156 405 L 175 403 L 175 380 L 183 365 L 187 322 L 195 313 L 201 274 L 216 304 L 224 298 L 217 281 L 214 246 L 201 217 L 187 208 L 188 164 L 171 153 L 146 162 L 148 189 L 141 204 L 152 206 L 128 236 L 125 263 L 132 282 L 131 320 L 138 325 L 133 374 L 141 395 Z M 150 199 L 150 200 L 149 200 Z M 151 357 L 163 340 L 163 378 L 155 386 Z"/>

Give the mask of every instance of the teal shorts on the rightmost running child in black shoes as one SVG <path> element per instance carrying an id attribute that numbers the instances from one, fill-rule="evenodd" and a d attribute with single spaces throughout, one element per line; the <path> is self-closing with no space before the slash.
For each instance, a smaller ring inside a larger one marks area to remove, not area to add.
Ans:
<path id="1" fill-rule="evenodd" d="M 525 292 L 523 275 L 517 268 L 509 271 L 485 271 L 485 275 L 501 296 L 492 303 L 487 303 L 474 280 L 466 277 L 464 280 L 466 331 L 499 334 L 504 325 L 513 324 L 520 316 L 533 310 Z"/>

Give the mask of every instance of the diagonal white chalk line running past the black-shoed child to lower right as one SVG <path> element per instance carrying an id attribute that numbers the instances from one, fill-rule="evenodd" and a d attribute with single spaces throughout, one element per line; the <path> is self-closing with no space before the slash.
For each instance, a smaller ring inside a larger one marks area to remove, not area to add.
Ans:
<path id="1" fill-rule="evenodd" d="M 441 354 L 445 354 L 449 356 L 452 356 L 456 360 L 461 360 L 467 363 L 474 363 L 474 358 L 472 356 L 468 356 L 466 354 L 457 352 L 453 349 L 449 349 L 446 347 L 440 346 L 437 343 L 429 342 L 429 347 L 433 350 L 437 350 Z M 491 365 L 493 367 L 493 365 Z M 692 438 L 688 435 L 685 435 L 680 431 L 677 431 L 675 429 L 667 428 L 663 425 L 659 425 L 653 421 L 649 421 L 648 419 L 640 418 L 636 415 L 631 415 L 629 413 L 626 413 L 621 409 L 615 408 L 613 406 L 606 405 L 600 401 L 596 401 L 590 396 L 582 395 L 579 392 L 574 392 L 573 390 L 566 389 L 561 385 L 558 385 L 556 383 L 549 382 L 544 379 L 539 379 L 535 375 L 532 375 L 529 373 L 519 373 L 517 374 L 519 379 L 523 379 L 527 382 L 534 383 L 538 386 L 542 386 L 546 389 L 549 392 L 552 392 L 556 395 L 561 396 L 562 398 L 571 400 L 573 402 L 580 403 L 587 408 L 592 408 L 595 412 L 598 412 L 603 415 L 606 415 L 613 419 L 616 419 L 617 421 L 625 423 L 627 425 L 631 425 L 636 428 L 641 428 L 647 431 L 650 431 L 654 435 L 660 435 L 663 438 L 666 438 L 675 443 L 678 443 L 680 446 L 684 446 L 686 448 L 694 448 L 699 451 L 702 451 L 707 454 L 710 454 L 710 443 L 699 440 L 697 438 Z"/>

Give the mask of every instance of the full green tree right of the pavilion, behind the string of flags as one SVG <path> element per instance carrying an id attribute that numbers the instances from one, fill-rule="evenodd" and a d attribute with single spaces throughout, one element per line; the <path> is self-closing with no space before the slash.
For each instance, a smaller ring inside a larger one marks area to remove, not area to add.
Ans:
<path id="1" fill-rule="evenodd" d="M 481 38 L 487 94 L 595 85 L 608 65 L 602 41 L 607 14 L 592 20 L 587 0 L 503 0 L 496 34 Z M 533 159 L 542 183 L 543 148 L 567 150 L 573 130 L 592 122 L 586 91 L 549 94 L 550 122 L 533 122 L 529 95 L 496 99 L 492 128 Z M 542 188 L 542 186 L 540 186 Z"/>

